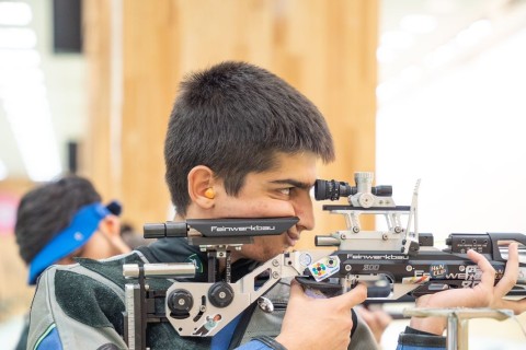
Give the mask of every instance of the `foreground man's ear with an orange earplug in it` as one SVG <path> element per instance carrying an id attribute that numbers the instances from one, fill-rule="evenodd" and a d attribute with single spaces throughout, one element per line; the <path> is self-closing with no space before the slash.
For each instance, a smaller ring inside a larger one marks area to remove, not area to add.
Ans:
<path id="1" fill-rule="evenodd" d="M 188 195 L 192 202 L 203 209 L 214 207 L 214 172 L 205 165 L 197 165 L 188 173 Z"/>

